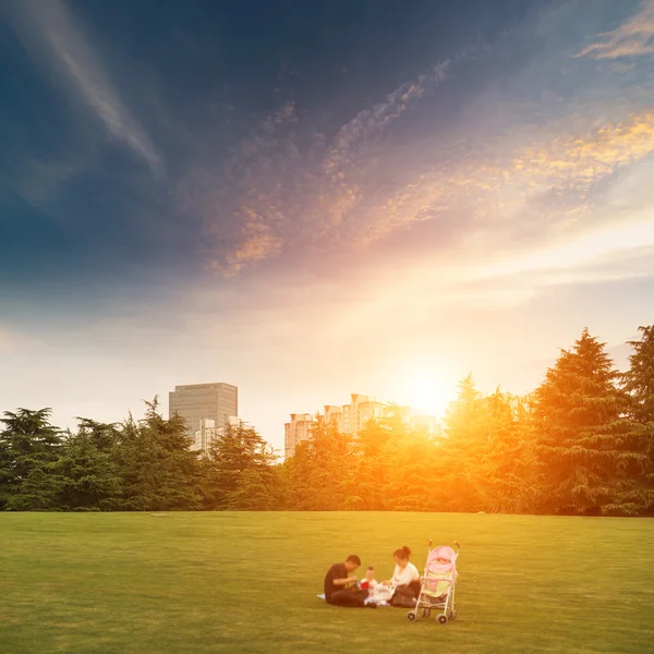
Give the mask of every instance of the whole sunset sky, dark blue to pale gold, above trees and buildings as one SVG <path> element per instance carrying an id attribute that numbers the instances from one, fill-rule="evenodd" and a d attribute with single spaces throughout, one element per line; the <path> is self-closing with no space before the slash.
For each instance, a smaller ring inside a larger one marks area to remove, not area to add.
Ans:
<path id="1" fill-rule="evenodd" d="M 654 0 L 0 0 L 0 411 L 526 392 L 654 318 Z"/>

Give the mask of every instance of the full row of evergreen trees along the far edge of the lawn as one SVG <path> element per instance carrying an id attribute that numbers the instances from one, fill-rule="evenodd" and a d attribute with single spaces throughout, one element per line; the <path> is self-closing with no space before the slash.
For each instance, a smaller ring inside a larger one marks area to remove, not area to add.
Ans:
<path id="1" fill-rule="evenodd" d="M 443 435 L 397 405 L 356 437 L 319 424 L 279 463 L 244 423 L 199 456 L 157 400 L 122 424 L 50 424 L 50 410 L 5 412 L 0 509 L 61 511 L 405 510 L 654 514 L 654 326 L 620 373 L 583 331 L 526 396 L 459 384 Z"/>

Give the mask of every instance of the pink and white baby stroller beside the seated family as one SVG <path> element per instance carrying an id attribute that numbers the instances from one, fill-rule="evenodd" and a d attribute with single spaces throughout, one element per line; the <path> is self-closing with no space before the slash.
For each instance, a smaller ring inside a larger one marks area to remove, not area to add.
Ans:
<path id="1" fill-rule="evenodd" d="M 457 572 L 457 558 L 461 546 L 456 541 L 455 545 L 457 552 L 449 545 L 440 545 L 432 549 L 432 541 L 429 541 L 425 572 L 421 578 L 420 595 L 415 602 L 415 608 L 407 614 L 407 619 L 410 622 L 417 620 L 421 610 L 423 618 L 428 618 L 432 610 L 438 610 L 439 614 L 436 619 L 439 625 L 447 625 L 448 620 L 457 618 L 455 586 L 459 576 Z"/>

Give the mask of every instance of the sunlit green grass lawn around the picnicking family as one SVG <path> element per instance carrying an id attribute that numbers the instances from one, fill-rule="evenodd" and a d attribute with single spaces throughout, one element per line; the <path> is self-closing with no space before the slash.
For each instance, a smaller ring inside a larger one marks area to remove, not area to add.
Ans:
<path id="1" fill-rule="evenodd" d="M 457 621 L 316 598 L 459 540 Z M 651 653 L 654 521 L 415 513 L 0 513 L 2 654 Z"/>

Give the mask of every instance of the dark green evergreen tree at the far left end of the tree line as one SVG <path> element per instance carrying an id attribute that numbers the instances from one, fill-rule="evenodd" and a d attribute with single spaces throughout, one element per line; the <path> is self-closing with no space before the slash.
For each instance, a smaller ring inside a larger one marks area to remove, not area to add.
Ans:
<path id="1" fill-rule="evenodd" d="M 60 479 L 52 471 L 61 433 L 50 409 L 5 412 L 0 433 L 0 508 L 28 511 L 58 508 Z"/>

